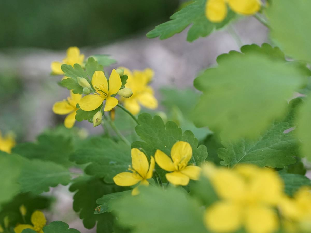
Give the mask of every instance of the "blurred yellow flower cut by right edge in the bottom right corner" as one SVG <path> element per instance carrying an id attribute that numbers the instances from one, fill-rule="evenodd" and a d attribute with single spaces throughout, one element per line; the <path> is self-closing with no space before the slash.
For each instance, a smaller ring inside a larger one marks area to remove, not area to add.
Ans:
<path id="1" fill-rule="evenodd" d="M 280 203 L 284 217 L 285 230 L 288 232 L 311 232 L 311 189 L 299 189 L 294 198 L 285 197 Z"/>

